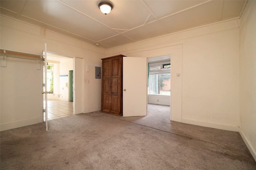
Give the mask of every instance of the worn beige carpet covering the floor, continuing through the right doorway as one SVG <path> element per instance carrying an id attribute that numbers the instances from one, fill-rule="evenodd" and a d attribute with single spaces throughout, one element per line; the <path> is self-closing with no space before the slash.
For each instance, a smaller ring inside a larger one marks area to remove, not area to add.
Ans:
<path id="1" fill-rule="evenodd" d="M 1 132 L 1 170 L 255 170 L 238 132 L 169 120 L 169 107 L 146 117 L 99 111 Z"/>

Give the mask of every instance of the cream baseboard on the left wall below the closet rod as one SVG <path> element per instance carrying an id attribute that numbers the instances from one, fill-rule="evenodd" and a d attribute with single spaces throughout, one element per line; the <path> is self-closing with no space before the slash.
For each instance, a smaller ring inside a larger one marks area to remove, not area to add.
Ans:
<path id="1" fill-rule="evenodd" d="M 18 128 L 18 127 L 24 127 L 28 125 L 33 125 L 36 123 L 41 123 L 43 121 L 43 117 L 36 117 L 32 119 L 25 119 L 21 121 L 14 121 L 14 122 L 8 122 L 8 123 L 2 123 L 0 125 L 0 131 L 9 130 L 12 128 Z"/>

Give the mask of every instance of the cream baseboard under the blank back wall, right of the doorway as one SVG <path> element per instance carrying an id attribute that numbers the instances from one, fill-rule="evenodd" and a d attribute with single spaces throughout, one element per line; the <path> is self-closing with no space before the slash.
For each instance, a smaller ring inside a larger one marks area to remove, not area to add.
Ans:
<path id="1" fill-rule="evenodd" d="M 192 124 L 192 125 L 203 126 L 203 127 L 218 128 L 218 129 L 222 129 L 222 130 L 230 130 L 230 131 L 234 131 L 234 132 L 239 131 L 238 127 L 229 126 L 229 125 L 221 125 L 221 124 L 216 124 L 216 123 L 200 122 L 200 121 L 194 121 L 194 120 L 190 120 L 190 119 L 181 119 L 181 122 Z"/>

